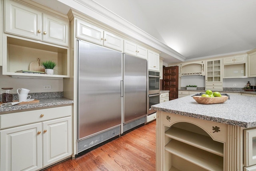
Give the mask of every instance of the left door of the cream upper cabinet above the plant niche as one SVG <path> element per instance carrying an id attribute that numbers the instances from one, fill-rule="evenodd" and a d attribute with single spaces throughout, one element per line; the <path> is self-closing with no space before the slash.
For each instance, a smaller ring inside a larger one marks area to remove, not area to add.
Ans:
<path id="1" fill-rule="evenodd" d="M 42 40 L 42 13 L 6 0 L 5 32 Z"/>

